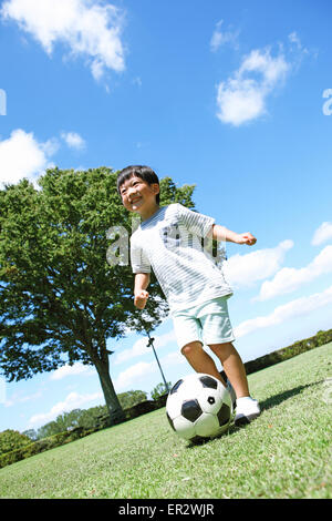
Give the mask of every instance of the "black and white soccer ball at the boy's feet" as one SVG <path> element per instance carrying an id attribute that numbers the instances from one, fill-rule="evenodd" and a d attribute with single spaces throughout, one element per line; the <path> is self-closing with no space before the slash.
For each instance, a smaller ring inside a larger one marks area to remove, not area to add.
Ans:
<path id="1" fill-rule="evenodd" d="M 215 438 L 228 429 L 232 418 L 231 398 L 217 378 L 195 372 L 173 386 L 166 415 L 170 427 L 185 440 Z"/>

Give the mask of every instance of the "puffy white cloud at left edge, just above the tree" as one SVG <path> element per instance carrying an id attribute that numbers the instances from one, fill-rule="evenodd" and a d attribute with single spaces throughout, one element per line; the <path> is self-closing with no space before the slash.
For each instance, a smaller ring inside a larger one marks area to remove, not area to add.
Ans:
<path id="1" fill-rule="evenodd" d="M 0 141 L 0 184 L 17 183 L 22 177 L 34 182 L 51 166 L 50 156 L 58 147 L 54 139 L 40 143 L 32 132 L 14 130 L 8 140 Z"/>

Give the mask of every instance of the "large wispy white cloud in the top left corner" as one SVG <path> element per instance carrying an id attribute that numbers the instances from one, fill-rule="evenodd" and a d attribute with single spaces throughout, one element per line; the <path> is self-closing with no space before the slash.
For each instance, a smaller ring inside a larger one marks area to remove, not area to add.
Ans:
<path id="1" fill-rule="evenodd" d="M 124 70 L 121 41 L 123 12 L 101 1 L 91 0 L 7 0 L 0 14 L 13 20 L 33 35 L 51 55 L 55 43 L 63 43 L 70 55 L 87 60 L 95 80 L 105 70 Z"/>

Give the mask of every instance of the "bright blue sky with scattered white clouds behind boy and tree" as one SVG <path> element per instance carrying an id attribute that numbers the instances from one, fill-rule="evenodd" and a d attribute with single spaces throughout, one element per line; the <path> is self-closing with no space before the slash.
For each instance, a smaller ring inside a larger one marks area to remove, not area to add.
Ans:
<path id="1" fill-rule="evenodd" d="M 331 14 L 330 0 L 0 1 L 0 185 L 128 164 L 195 184 L 197 211 L 257 237 L 227 245 L 243 361 L 330 329 Z M 167 381 L 191 372 L 170 319 L 154 338 Z M 146 344 L 108 341 L 117 392 L 162 381 Z M 96 405 L 93 367 L 0 377 L 0 431 Z"/>

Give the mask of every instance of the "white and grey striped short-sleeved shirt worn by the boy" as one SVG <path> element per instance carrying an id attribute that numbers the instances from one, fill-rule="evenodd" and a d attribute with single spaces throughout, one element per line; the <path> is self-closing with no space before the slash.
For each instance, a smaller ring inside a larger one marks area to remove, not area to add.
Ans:
<path id="1" fill-rule="evenodd" d="M 175 203 L 162 206 L 131 237 L 133 272 L 153 268 L 170 313 L 232 294 L 207 238 L 214 224 L 214 218 Z"/>

